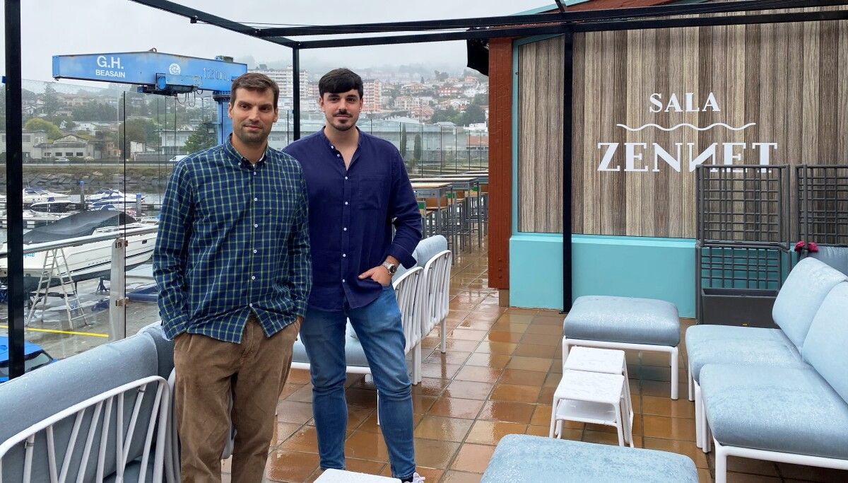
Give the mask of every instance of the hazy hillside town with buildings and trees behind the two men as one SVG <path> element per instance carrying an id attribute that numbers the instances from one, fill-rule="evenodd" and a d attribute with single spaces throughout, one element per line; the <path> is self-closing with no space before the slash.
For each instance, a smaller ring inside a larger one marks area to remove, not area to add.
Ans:
<path id="1" fill-rule="evenodd" d="M 270 76 L 280 88 L 279 119 L 271 144 L 293 140 L 293 71 L 259 64 L 251 69 Z M 412 152 L 415 132 L 422 137 L 423 159 L 434 160 L 439 129 L 449 123 L 467 151 L 488 149 L 488 81 L 483 76 L 449 76 L 435 71 L 360 70 L 363 76 L 363 120 L 360 128 L 380 132 L 400 145 L 400 126 L 408 132 Z M 318 108 L 317 75 L 302 69 L 300 111 L 302 132 L 324 122 Z M 22 99 L 25 160 L 157 160 L 187 154 L 188 149 L 215 143 L 215 104 L 194 94 L 178 98 L 136 93 L 135 87 L 112 85 L 98 89 L 51 82 L 31 82 Z M 126 112 L 125 112 L 126 111 Z M 485 116 L 483 115 L 485 114 Z M 438 125 L 437 125 L 438 124 Z M 125 126 L 126 125 L 126 126 Z M 439 127 L 441 126 L 441 127 Z M 2 126 L 0 126 L 2 128 Z M 428 131 L 435 129 L 436 131 Z M 0 153 L 6 136 L 0 132 Z M 463 148 L 459 147 L 461 151 Z"/>

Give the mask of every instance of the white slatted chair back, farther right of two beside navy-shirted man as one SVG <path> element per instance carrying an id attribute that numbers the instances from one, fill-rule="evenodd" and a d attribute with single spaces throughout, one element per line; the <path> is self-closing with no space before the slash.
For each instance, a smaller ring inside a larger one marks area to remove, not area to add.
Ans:
<path id="1" fill-rule="evenodd" d="M 454 254 L 450 250 L 438 252 L 424 266 L 424 284 L 422 297 L 427 300 L 422 310 L 421 338 L 430 334 L 437 324 L 442 324 L 442 342 L 439 350 L 444 354 L 447 351 L 447 328 L 445 320 L 448 318 L 450 299 L 450 266 Z M 420 351 L 420 348 L 419 348 Z M 420 356 L 419 356 L 420 357 Z"/>

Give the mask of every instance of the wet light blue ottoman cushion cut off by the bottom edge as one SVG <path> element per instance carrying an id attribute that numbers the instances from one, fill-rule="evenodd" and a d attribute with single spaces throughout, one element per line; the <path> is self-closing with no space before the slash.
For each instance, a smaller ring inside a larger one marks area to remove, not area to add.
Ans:
<path id="1" fill-rule="evenodd" d="M 674 452 L 505 435 L 481 480 L 482 483 L 546 481 L 695 483 L 698 471 L 689 457 Z"/>

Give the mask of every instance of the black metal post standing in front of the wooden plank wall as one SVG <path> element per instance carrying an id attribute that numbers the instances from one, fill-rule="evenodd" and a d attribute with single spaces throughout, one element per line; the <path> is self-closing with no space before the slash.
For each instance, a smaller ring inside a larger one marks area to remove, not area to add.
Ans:
<path id="1" fill-rule="evenodd" d="M 574 31 L 565 36 L 562 72 L 562 312 L 572 309 L 572 81 Z"/>

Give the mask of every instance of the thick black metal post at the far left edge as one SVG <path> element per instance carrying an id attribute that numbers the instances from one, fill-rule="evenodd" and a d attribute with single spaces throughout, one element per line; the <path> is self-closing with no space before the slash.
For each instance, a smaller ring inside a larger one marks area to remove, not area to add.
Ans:
<path id="1" fill-rule="evenodd" d="M 24 148 L 20 78 L 20 0 L 5 0 L 8 377 L 24 375 Z"/>

